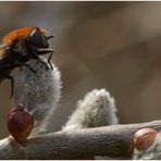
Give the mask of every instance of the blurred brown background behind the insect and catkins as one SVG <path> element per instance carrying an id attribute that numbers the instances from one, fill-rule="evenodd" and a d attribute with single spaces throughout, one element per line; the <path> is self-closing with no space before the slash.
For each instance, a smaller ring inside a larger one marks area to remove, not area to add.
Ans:
<path id="1" fill-rule="evenodd" d="M 161 116 L 161 2 L 0 2 L 0 37 L 23 26 L 54 36 L 52 61 L 63 97 L 52 117 L 59 131 L 94 88 L 115 98 L 120 123 Z M 8 135 L 10 82 L 0 85 L 0 138 Z"/>

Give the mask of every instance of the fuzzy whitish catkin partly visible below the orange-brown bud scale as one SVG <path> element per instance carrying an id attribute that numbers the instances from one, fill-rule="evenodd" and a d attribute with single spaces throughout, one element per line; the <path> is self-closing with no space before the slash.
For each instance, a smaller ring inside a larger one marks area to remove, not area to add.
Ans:
<path id="1" fill-rule="evenodd" d="M 159 132 L 152 146 L 146 150 L 134 149 L 134 160 L 161 160 L 161 133 Z"/>

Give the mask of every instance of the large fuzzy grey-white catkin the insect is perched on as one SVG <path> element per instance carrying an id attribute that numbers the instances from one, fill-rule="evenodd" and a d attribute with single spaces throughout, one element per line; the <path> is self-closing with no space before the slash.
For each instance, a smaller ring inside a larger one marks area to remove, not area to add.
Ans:
<path id="1" fill-rule="evenodd" d="M 41 58 L 51 67 L 47 59 Z M 14 77 L 14 104 L 23 104 L 25 110 L 35 119 L 35 134 L 45 132 L 48 121 L 52 116 L 61 98 L 61 74 L 52 63 L 53 70 L 37 60 L 30 60 L 27 64 L 36 71 L 34 74 L 24 66 Z"/>

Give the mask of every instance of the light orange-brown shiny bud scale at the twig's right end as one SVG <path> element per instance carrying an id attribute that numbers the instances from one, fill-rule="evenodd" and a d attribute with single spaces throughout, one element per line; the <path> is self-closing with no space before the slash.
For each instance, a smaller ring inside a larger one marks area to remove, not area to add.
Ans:
<path id="1" fill-rule="evenodd" d="M 137 131 L 134 136 L 134 147 L 137 150 L 148 149 L 156 140 L 157 133 L 156 129 L 149 127 Z"/>

